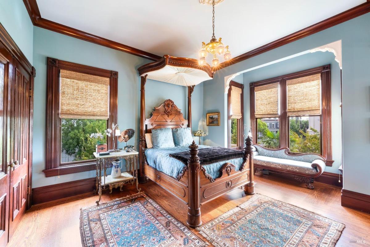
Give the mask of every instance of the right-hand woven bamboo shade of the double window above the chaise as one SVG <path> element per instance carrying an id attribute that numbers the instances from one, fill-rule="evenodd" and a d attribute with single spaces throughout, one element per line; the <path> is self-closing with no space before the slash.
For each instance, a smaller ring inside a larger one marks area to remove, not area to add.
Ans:
<path id="1" fill-rule="evenodd" d="M 321 114 L 321 74 L 286 81 L 288 116 Z"/>

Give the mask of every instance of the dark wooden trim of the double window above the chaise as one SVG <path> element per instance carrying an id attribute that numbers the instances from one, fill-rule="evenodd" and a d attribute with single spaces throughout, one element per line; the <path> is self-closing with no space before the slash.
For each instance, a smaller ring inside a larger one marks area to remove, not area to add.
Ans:
<path id="1" fill-rule="evenodd" d="M 280 148 L 289 147 L 289 120 L 287 117 L 287 93 L 286 81 L 303 76 L 310 76 L 313 74 L 321 74 L 321 105 L 322 105 L 322 124 L 321 124 L 321 150 L 322 156 L 326 159 L 326 166 L 332 166 L 332 91 L 331 91 L 331 78 L 330 78 L 330 64 L 319 66 L 313 69 L 303 70 L 296 73 L 290 73 L 283 76 L 256 81 L 250 83 L 250 123 L 253 136 L 257 136 L 257 120 L 255 118 L 255 87 L 263 86 L 271 83 L 279 83 L 280 90 L 280 117 L 279 117 L 279 133 L 280 133 Z M 325 131 L 323 131 L 325 130 Z M 253 139 L 256 141 L 256 138 Z"/>

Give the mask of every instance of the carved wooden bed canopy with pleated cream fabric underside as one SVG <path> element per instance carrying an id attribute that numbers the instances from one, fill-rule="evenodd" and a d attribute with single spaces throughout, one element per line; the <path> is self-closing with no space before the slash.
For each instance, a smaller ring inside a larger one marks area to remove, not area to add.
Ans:
<path id="1" fill-rule="evenodd" d="M 213 78 L 213 71 L 209 64 L 199 66 L 196 59 L 169 55 L 139 67 L 138 71 L 140 76 L 147 75 L 147 79 L 184 87 L 198 85 L 202 81 Z"/>

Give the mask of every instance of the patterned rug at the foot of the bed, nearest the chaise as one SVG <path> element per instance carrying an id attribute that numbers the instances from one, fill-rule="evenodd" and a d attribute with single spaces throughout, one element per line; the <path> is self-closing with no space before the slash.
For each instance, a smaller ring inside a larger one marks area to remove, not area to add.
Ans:
<path id="1" fill-rule="evenodd" d="M 198 228 L 216 247 L 332 247 L 344 224 L 260 194 Z"/>

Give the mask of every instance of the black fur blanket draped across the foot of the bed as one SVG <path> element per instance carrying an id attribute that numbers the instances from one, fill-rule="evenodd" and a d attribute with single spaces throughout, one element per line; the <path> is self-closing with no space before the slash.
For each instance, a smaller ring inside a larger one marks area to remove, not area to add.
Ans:
<path id="1" fill-rule="evenodd" d="M 232 160 L 234 158 L 243 158 L 244 152 L 237 149 L 225 148 L 225 147 L 209 147 L 198 149 L 199 161 L 202 165 L 208 165 L 224 160 Z M 190 158 L 190 151 L 184 151 L 180 153 L 173 153 L 169 155 L 176 160 L 181 161 L 185 165 L 188 165 L 188 159 Z"/>

